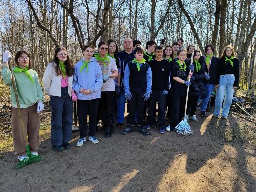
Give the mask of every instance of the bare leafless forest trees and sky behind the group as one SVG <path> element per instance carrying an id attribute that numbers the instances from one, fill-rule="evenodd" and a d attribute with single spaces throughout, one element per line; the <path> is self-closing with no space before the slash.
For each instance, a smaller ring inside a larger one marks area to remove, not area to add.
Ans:
<path id="1" fill-rule="evenodd" d="M 255 92 L 256 1 L 254 0 L 6 0 L 0 2 L 0 57 L 26 50 L 40 78 L 56 46 L 68 49 L 73 62 L 91 42 L 114 39 L 119 50 L 125 37 L 145 47 L 152 39 L 172 44 L 179 37 L 184 48 L 204 53 L 213 44 L 220 56 L 233 45 L 240 61 L 240 89 Z"/>

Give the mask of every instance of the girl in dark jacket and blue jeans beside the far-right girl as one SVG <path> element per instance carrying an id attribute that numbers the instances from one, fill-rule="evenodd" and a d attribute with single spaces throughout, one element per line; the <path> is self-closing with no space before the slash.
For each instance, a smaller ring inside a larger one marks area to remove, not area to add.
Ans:
<path id="1" fill-rule="evenodd" d="M 212 91 L 214 90 L 215 85 L 217 84 L 217 70 L 218 70 L 218 62 L 219 59 L 215 57 L 214 54 L 214 46 L 211 44 L 205 46 L 205 55 L 201 56 L 203 60 L 203 64 L 205 66 L 205 88 L 206 94 L 201 97 L 201 116 L 207 117 L 206 108 L 211 96 Z"/>

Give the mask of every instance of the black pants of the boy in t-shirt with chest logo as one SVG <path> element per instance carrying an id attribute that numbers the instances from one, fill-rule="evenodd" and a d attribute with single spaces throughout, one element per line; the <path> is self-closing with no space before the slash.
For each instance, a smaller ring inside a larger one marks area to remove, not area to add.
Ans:
<path id="1" fill-rule="evenodd" d="M 158 121 L 159 127 L 164 127 L 164 117 L 165 117 L 165 104 L 166 104 L 166 96 L 163 95 L 163 91 L 152 91 L 150 105 L 148 108 L 148 121 L 150 123 L 155 123 L 155 115 L 156 115 L 156 103 L 158 102 Z"/>

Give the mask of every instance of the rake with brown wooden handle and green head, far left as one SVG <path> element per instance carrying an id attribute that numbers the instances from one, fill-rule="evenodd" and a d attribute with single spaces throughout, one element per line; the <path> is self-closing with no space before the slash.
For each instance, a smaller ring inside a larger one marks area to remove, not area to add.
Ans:
<path id="1" fill-rule="evenodd" d="M 26 165 L 29 165 L 31 163 L 34 163 L 34 162 L 38 162 L 38 161 L 41 161 L 43 159 L 42 156 L 37 156 L 37 155 L 33 155 L 31 154 L 30 152 L 30 148 L 29 148 L 29 145 L 28 145 L 28 140 L 27 140 L 27 135 L 26 135 L 26 132 L 25 132 L 25 124 L 24 124 L 24 121 L 23 121 L 23 118 L 22 118 L 22 112 L 20 110 L 20 104 L 19 104 L 19 100 L 18 100 L 18 92 L 17 92 L 17 87 L 16 87 L 16 83 L 15 83 L 15 77 L 14 77 L 14 73 L 12 71 L 12 66 L 11 66 L 11 62 L 8 61 L 8 65 L 9 65 L 9 69 L 12 73 L 12 87 L 13 87 L 13 90 L 14 90 L 14 94 L 15 94 L 15 99 L 16 99 L 16 102 L 17 102 L 17 106 L 18 106 L 18 116 L 19 116 L 19 119 L 20 119 L 20 125 L 22 125 L 22 135 L 21 137 L 24 137 L 27 141 L 27 145 L 26 145 L 26 152 L 27 152 L 27 156 L 29 157 L 29 159 L 27 161 L 20 161 L 16 166 L 15 166 L 15 169 L 20 169 Z M 21 138 L 23 139 L 23 138 Z"/>

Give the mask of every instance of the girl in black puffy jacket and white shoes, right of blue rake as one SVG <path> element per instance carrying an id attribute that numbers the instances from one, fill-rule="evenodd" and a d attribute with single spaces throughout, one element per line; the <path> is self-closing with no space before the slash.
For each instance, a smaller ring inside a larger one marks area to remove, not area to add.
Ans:
<path id="1" fill-rule="evenodd" d="M 190 60 L 187 61 L 190 64 Z M 189 120 L 188 115 L 190 115 L 191 120 L 198 121 L 196 118 L 196 108 L 199 96 L 204 96 L 206 94 L 206 89 L 204 87 L 205 69 L 202 59 L 200 58 L 200 51 L 194 51 L 193 58 L 194 72 L 191 76 L 191 86 L 189 88 L 188 102 L 187 102 L 187 112 L 186 119 Z M 191 108 L 190 114 L 189 110 Z"/>

